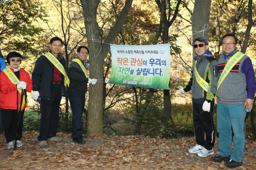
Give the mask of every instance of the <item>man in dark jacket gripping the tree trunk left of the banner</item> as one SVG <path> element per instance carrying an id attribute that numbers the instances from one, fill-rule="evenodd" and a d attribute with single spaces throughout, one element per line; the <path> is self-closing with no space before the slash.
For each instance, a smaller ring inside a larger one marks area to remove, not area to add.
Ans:
<path id="1" fill-rule="evenodd" d="M 77 56 L 69 65 L 70 86 L 68 88 L 69 101 L 72 110 L 72 138 L 74 142 L 84 144 L 82 139 L 82 115 L 85 108 L 85 93 L 87 83 L 96 84 L 96 79 L 87 76 L 87 57 L 89 50 L 86 46 L 79 46 Z"/>

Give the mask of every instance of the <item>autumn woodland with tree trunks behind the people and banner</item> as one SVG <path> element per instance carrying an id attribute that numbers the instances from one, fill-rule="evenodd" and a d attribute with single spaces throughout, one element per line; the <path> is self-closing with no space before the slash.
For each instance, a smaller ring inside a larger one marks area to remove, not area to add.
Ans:
<path id="1" fill-rule="evenodd" d="M 255 6 L 256 0 L 0 0 L 0 46 L 4 56 L 20 52 L 25 58 L 21 66 L 32 73 L 36 59 L 49 51 L 51 37 L 63 39 L 62 54 L 68 63 L 76 48 L 86 45 L 90 77 L 107 82 L 111 53 L 105 43 L 169 43 L 171 90 L 98 82 L 94 92 L 90 87 L 86 94 L 83 129 L 88 136 L 193 136 L 191 94 L 177 92 L 190 77 L 192 40 L 209 37 L 209 49 L 218 59 L 220 38 L 232 32 L 256 69 Z M 70 133 L 72 113 L 67 103 L 66 96 L 58 131 Z M 255 107 L 246 119 L 248 140 L 256 140 Z M 216 122 L 216 110 L 214 117 Z M 39 120 L 39 105 L 30 99 L 23 130 L 38 131 Z"/>

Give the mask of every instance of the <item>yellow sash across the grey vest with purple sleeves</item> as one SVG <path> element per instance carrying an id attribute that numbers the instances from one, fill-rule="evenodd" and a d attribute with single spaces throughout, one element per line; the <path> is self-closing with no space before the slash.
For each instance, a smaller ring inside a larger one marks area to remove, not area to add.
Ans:
<path id="1" fill-rule="evenodd" d="M 218 80 L 217 90 L 219 89 L 221 83 L 224 81 L 224 79 L 227 77 L 227 74 L 231 71 L 231 69 L 238 63 L 238 61 L 244 56 L 245 54 L 237 51 L 231 58 L 229 58 L 229 61 L 225 65 L 222 73 L 220 74 L 220 78 Z M 217 94 L 216 90 L 216 94 Z M 215 104 L 217 104 L 217 99 L 215 95 Z"/>

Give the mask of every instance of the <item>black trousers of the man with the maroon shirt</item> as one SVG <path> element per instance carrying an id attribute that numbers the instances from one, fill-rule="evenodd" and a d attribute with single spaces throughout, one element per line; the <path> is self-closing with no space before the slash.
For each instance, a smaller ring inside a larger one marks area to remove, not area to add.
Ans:
<path id="1" fill-rule="evenodd" d="M 41 99 L 41 119 L 38 140 L 47 140 L 56 136 L 59 122 L 59 104 L 61 101 L 61 85 L 52 84 L 50 100 Z"/>

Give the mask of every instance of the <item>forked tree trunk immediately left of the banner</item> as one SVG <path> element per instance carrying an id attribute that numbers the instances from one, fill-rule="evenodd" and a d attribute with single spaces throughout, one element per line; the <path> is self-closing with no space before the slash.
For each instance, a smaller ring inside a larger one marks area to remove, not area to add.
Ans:
<path id="1" fill-rule="evenodd" d="M 85 28 L 87 39 L 99 38 L 99 25 L 97 23 L 97 8 L 100 0 L 80 0 L 83 7 L 85 18 Z M 132 6 L 133 0 L 126 0 L 124 8 L 119 15 L 115 25 L 110 28 L 110 32 L 106 36 L 105 43 L 111 44 L 117 34 L 123 27 L 128 12 Z M 90 77 L 103 80 L 103 62 L 110 50 L 108 44 L 101 44 L 88 40 L 88 48 L 90 50 Z M 87 135 L 101 135 L 103 133 L 103 84 L 96 83 L 89 88 L 89 106 L 88 106 L 88 129 Z"/>

